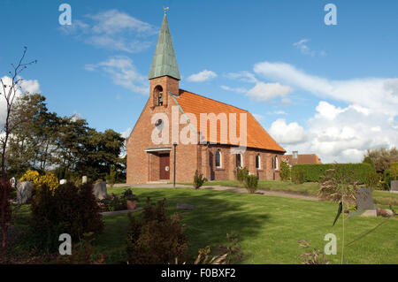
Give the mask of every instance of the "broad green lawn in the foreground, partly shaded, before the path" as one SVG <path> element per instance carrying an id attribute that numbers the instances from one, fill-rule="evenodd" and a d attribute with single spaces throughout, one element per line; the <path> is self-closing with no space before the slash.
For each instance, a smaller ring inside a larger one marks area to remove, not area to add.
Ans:
<path id="1" fill-rule="evenodd" d="M 112 188 L 109 193 L 121 194 L 124 189 Z M 226 232 L 234 231 L 239 236 L 244 253 L 242 263 L 301 263 L 298 255 L 304 251 L 299 247 L 298 240 L 308 240 L 312 247 L 323 250 L 325 234 L 334 233 L 338 239 L 337 255 L 327 255 L 327 259 L 331 263 L 340 263 L 342 225 L 339 219 L 332 227 L 337 211 L 337 204 L 332 202 L 206 189 L 133 190 L 140 199 L 138 206 L 145 204 L 147 196 L 153 200 L 166 198 L 170 213 L 177 211 L 177 202 L 195 206 L 195 210 L 178 210 L 187 226 L 186 233 L 191 240 L 188 255 L 192 259 L 199 248 L 226 243 Z M 384 220 L 388 220 L 386 225 L 346 248 L 346 263 L 398 263 L 398 220 L 380 217 L 348 219 L 346 242 Z M 104 221 L 105 230 L 96 239 L 96 247 L 109 255 L 109 263 L 124 260 L 128 217 L 126 214 L 108 216 L 104 217 Z"/>

